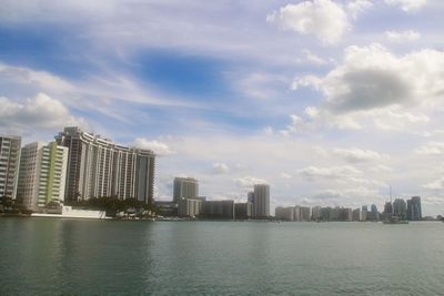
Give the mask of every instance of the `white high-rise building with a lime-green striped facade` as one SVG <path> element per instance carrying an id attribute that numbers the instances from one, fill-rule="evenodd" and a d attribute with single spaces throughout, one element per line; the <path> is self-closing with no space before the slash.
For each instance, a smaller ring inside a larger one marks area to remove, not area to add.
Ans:
<path id="1" fill-rule="evenodd" d="M 68 147 L 31 143 L 21 149 L 17 196 L 31 211 L 50 202 L 63 203 Z"/>

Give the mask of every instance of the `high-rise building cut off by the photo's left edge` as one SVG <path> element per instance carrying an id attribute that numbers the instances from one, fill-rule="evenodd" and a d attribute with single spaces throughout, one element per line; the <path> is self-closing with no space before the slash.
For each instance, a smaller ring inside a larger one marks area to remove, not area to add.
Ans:
<path id="1" fill-rule="evenodd" d="M 0 197 L 7 196 L 16 200 L 20 145 L 20 136 L 0 135 Z"/>

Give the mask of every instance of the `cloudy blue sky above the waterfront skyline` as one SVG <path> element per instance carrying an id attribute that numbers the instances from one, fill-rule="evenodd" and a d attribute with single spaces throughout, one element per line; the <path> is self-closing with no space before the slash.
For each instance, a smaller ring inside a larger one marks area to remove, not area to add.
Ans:
<path id="1" fill-rule="evenodd" d="M 153 150 L 155 200 L 422 196 L 444 214 L 444 1 L 0 0 L 0 133 Z"/>

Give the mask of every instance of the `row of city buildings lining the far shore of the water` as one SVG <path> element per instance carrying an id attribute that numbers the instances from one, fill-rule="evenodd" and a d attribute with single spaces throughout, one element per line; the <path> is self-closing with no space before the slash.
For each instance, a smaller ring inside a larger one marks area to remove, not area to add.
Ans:
<path id="1" fill-rule="evenodd" d="M 62 205 L 93 198 L 134 200 L 149 205 L 151 215 L 182 218 L 270 220 L 270 186 L 254 184 L 245 202 L 209 201 L 199 194 L 199 181 L 175 177 L 172 201 L 154 201 L 155 154 L 113 143 L 109 139 L 64 127 L 50 143 L 21 146 L 20 136 L 0 136 L 0 202 L 28 213 L 47 213 Z M 83 203 L 83 207 L 85 204 Z M 119 208 L 117 208 L 119 212 Z M 147 212 L 147 211 L 145 211 Z M 295 222 L 352 222 L 423 220 L 421 197 L 396 198 L 379 212 L 375 204 L 359 208 L 278 206 L 274 220 Z"/>

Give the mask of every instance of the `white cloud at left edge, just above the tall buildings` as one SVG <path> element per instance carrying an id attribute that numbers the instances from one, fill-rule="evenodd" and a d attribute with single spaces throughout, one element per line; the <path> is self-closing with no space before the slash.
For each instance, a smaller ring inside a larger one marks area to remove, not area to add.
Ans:
<path id="1" fill-rule="evenodd" d="M 20 103 L 0 96 L 0 125 L 6 131 L 23 132 L 32 129 L 61 129 L 67 125 L 88 127 L 85 121 L 73 116 L 57 99 L 39 93 Z"/>

